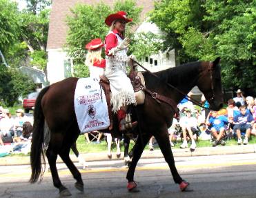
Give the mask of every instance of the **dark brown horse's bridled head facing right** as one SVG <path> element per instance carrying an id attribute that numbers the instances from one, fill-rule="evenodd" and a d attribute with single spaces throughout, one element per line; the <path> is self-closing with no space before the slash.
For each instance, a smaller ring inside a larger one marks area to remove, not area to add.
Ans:
<path id="1" fill-rule="evenodd" d="M 213 62 L 204 62 L 203 71 L 197 81 L 199 90 L 204 93 L 212 110 L 219 110 L 224 103 L 219 61 L 220 57 Z"/>

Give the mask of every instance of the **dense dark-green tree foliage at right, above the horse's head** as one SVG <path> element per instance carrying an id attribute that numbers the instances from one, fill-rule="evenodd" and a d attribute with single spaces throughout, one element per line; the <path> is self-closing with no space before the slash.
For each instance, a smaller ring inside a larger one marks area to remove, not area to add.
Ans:
<path id="1" fill-rule="evenodd" d="M 181 63 L 221 56 L 222 79 L 229 88 L 255 88 L 256 1 L 164 0 L 150 20 L 167 33 Z"/>

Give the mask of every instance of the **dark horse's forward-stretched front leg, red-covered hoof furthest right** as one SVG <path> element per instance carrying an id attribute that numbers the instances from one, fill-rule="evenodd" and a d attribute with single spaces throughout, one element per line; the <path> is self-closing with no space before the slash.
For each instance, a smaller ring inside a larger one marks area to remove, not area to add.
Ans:
<path id="1" fill-rule="evenodd" d="M 181 191 L 188 190 L 188 182 L 184 181 L 181 178 L 175 166 L 173 152 L 170 148 L 168 130 L 158 130 L 157 132 L 155 132 L 154 136 L 161 149 L 161 152 L 164 155 L 164 159 L 166 160 L 168 166 L 170 167 L 170 172 L 172 172 L 173 180 L 175 181 L 176 184 L 179 184 L 179 188 Z"/>

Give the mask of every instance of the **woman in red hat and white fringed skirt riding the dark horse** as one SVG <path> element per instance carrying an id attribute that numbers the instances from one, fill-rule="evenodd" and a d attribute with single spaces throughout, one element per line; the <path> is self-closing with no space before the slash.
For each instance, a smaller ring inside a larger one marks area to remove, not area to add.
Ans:
<path id="1" fill-rule="evenodd" d="M 106 50 L 106 71 L 105 75 L 110 81 L 112 91 L 111 105 L 114 112 L 117 112 L 119 130 L 127 130 L 126 109 L 129 104 L 136 105 L 135 92 L 133 91 L 130 79 L 126 76 L 126 62 L 132 59 L 127 56 L 130 39 L 124 38 L 126 23 L 132 21 L 126 17 L 126 12 L 119 11 L 106 17 L 105 23 L 110 27 L 105 39 Z M 135 127 L 137 122 L 129 125 Z"/>

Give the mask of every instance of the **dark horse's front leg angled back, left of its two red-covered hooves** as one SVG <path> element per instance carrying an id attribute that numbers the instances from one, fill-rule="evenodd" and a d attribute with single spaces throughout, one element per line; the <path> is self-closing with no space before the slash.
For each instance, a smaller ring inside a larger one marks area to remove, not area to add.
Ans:
<path id="1" fill-rule="evenodd" d="M 137 184 L 134 181 L 135 168 L 137 166 L 139 159 L 141 158 L 141 154 L 146 144 L 148 143 L 150 137 L 151 136 L 148 134 L 139 135 L 139 137 L 137 138 L 137 141 L 135 142 L 132 161 L 130 163 L 130 166 L 126 175 L 126 179 L 128 179 L 127 189 L 129 191 L 135 191 L 137 187 Z"/>

